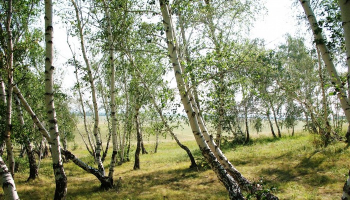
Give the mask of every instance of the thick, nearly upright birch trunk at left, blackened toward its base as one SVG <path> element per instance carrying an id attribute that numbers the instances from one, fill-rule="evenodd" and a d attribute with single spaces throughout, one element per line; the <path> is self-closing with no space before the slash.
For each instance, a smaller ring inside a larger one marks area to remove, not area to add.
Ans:
<path id="1" fill-rule="evenodd" d="M 56 119 L 56 111 L 53 102 L 53 24 L 52 24 L 52 0 L 45 0 L 45 104 L 49 126 L 51 156 L 56 188 L 54 200 L 65 199 L 67 193 L 67 177 L 63 169 L 60 153 L 59 132 Z"/>

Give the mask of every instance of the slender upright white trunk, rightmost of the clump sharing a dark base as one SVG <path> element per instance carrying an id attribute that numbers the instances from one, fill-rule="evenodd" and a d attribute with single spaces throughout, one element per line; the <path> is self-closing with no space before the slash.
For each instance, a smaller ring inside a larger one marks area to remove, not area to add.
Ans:
<path id="1" fill-rule="evenodd" d="M 115 116 L 115 67 L 114 67 L 114 50 L 113 50 L 113 37 L 112 37 L 112 29 L 110 26 L 110 16 L 108 10 L 108 4 L 105 0 L 103 0 L 104 5 L 104 15 L 107 21 L 107 31 L 108 31 L 108 47 L 109 47 L 109 65 L 110 65 L 110 115 L 112 118 L 112 143 L 113 143 L 113 152 L 110 160 L 109 166 L 109 178 L 113 179 L 114 165 L 116 160 L 116 155 L 118 152 L 118 146 L 116 141 L 116 116 Z"/>

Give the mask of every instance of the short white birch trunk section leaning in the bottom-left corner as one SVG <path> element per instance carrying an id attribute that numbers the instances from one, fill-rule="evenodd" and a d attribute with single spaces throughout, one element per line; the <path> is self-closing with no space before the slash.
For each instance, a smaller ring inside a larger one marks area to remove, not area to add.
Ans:
<path id="1" fill-rule="evenodd" d="M 0 185 L 3 189 L 3 198 L 6 200 L 19 200 L 16 186 L 5 162 L 0 156 Z"/>

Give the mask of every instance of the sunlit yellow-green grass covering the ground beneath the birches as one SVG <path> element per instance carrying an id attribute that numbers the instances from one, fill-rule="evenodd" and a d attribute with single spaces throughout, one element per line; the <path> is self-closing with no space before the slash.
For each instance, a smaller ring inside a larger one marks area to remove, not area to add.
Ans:
<path id="1" fill-rule="evenodd" d="M 300 125 L 301 127 L 302 125 Z M 201 155 L 188 127 L 176 130 L 178 137 L 194 153 Z M 268 135 L 268 136 L 266 136 Z M 253 134 L 247 145 L 224 148 L 227 158 L 248 179 L 260 179 L 266 187 L 276 187 L 280 199 L 339 199 L 350 168 L 350 150 L 344 143 L 334 142 L 319 147 L 318 138 L 298 131 L 294 136 L 283 132 L 282 138 L 271 138 L 268 131 Z M 79 142 L 78 137 L 77 143 Z M 145 138 L 148 151 L 154 147 L 153 138 Z M 134 150 L 134 146 L 133 149 Z M 79 146 L 73 151 L 94 165 L 86 150 Z M 133 152 L 131 153 L 133 155 Z M 121 177 L 120 190 L 99 189 L 99 181 L 74 163 L 64 164 L 68 178 L 67 199 L 228 199 L 227 192 L 211 169 L 189 169 L 184 150 L 170 138 L 162 139 L 157 153 L 140 156 L 140 170 L 132 170 L 133 158 L 114 171 Z M 109 160 L 104 162 L 105 168 Z M 52 199 L 54 176 L 51 161 L 42 161 L 40 178 L 26 182 L 28 171 L 15 176 L 20 199 Z"/>

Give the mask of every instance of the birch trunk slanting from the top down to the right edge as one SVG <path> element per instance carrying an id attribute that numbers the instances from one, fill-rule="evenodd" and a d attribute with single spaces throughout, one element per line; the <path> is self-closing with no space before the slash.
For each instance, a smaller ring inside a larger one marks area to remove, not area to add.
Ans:
<path id="1" fill-rule="evenodd" d="M 335 69 L 334 63 L 332 61 L 333 59 L 332 59 L 332 57 L 329 54 L 327 46 L 325 45 L 326 40 L 323 38 L 321 28 L 318 26 L 316 17 L 314 15 L 313 11 L 312 11 L 312 8 L 310 6 L 309 1 L 308 0 L 299 0 L 299 1 L 300 1 L 301 5 L 302 5 L 302 8 L 304 9 L 305 15 L 307 16 L 308 22 L 309 22 L 309 24 L 311 26 L 311 29 L 312 29 L 312 32 L 313 32 L 313 36 L 315 38 L 314 41 L 315 41 L 319 51 L 321 52 L 321 56 L 322 56 L 323 62 L 325 64 L 325 66 L 327 68 L 327 71 L 329 73 L 329 76 L 330 76 L 330 78 L 332 80 L 331 82 L 332 82 L 333 86 L 335 87 L 335 90 L 338 91 L 337 92 L 337 96 L 339 98 L 341 107 L 342 107 L 342 109 L 344 111 L 344 114 L 346 116 L 346 120 L 348 122 L 350 122 L 350 105 L 348 103 L 348 98 L 347 98 L 347 95 L 346 95 L 346 91 L 345 91 L 345 89 L 342 86 L 341 80 L 339 78 L 339 75 L 338 75 L 338 73 L 337 73 L 337 71 Z M 347 0 L 341 0 L 341 1 L 342 2 L 347 2 Z M 349 2 L 347 2 L 347 4 L 349 4 Z M 346 5 L 344 5 L 344 6 L 346 6 Z M 347 7 L 348 7 L 348 5 L 347 5 Z M 346 10 L 348 10 L 348 9 L 346 9 Z M 347 35 L 347 38 L 348 38 L 348 35 Z M 345 39 L 346 39 L 346 37 L 345 37 Z M 345 45 L 345 48 L 346 48 L 346 45 Z M 348 48 L 346 48 L 346 49 L 348 49 Z M 349 52 L 347 52 L 347 57 L 348 57 L 348 53 Z M 348 61 L 349 60 L 347 59 L 347 62 Z"/>

